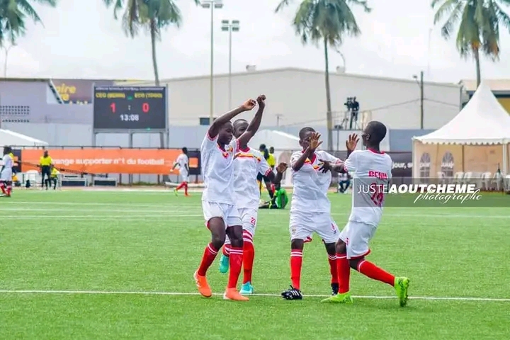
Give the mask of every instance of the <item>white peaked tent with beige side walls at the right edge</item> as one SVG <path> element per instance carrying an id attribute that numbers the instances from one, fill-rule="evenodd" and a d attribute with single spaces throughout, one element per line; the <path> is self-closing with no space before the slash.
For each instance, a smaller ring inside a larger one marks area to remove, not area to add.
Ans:
<path id="1" fill-rule="evenodd" d="M 509 142 L 510 115 L 482 82 L 450 122 L 428 135 L 413 137 L 413 176 L 494 171 L 499 164 L 506 174 Z M 429 171 L 422 170 L 427 166 Z"/>

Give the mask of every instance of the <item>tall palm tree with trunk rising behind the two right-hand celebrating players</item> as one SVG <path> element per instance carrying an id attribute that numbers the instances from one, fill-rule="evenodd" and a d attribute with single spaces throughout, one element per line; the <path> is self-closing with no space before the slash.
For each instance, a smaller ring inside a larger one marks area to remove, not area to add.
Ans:
<path id="1" fill-rule="evenodd" d="M 290 0 L 282 0 L 276 12 L 288 6 Z M 331 90 L 329 86 L 329 55 L 328 48 L 338 51 L 345 35 L 358 36 L 361 30 L 349 5 L 362 6 L 370 12 L 363 0 L 303 0 L 297 8 L 292 25 L 301 42 L 306 45 L 312 42 L 317 47 L 319 42 L 324 45 L 324 82 L 326 86 L 328 149 L 333 149 L 333 115 L 331 113 Z"/>

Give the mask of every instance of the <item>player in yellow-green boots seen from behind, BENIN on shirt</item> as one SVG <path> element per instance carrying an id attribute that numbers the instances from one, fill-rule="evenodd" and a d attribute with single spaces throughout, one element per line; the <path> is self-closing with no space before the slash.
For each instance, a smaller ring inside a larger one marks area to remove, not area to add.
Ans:
<path id="1" fill-rule="evenodd" d="M 354 171 L 353 200 L 351 216 L 336 243 L 339 293 L 323 302 L 352 303 L 349 293 L 351 268 L 369 278 L 387 283 L 395 288 L 399 305 L 407 305 L 409 278 L 395 277 L 374 263 L 365 260 L 370 254 L 368 243 L 373 238 L 382 216 L 384 188 L 392 176 L 392 159 L 380 152 L 380 142 L 386 135 L 386 127 L 378 121 L 366 125 L 361 138 L 366 150 L 356 150 L 358 137 L 351 135 L 346 142 L 346 171 Z M 338 169 L 339 166 L 325 162 L 325 167 Z"/>

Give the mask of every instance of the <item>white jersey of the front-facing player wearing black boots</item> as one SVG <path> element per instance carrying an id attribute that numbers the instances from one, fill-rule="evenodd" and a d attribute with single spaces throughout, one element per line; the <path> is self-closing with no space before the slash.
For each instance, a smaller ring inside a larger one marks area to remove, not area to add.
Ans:
<path id="1" fill-rule="evenodd" d="M 302 151 L 294 152 L 290 157 L 290 166 L 300 159 Z M 331 212 L 331 203 L 327 198 L 327 192 L 331 185 L 331 171 L 322 173 L 319 171 L 319 159 L 340 164 L 341 160 L 325 151 L 315 152 L 312 159 L 307 159 L 299 171 L 292 170 L 294 191 L 290 212 Z"/>

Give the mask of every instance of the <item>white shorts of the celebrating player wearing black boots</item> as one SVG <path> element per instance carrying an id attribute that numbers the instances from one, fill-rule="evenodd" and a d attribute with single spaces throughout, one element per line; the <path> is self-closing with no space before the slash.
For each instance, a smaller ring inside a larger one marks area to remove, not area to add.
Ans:
<path id="1" fill-rule="evenodd" d="M 290 211 L 290 239 L 312 240 L 315 232 L 329 244 L 339 239 L 339 229 L 328 212 L 296 212 Z"/>

